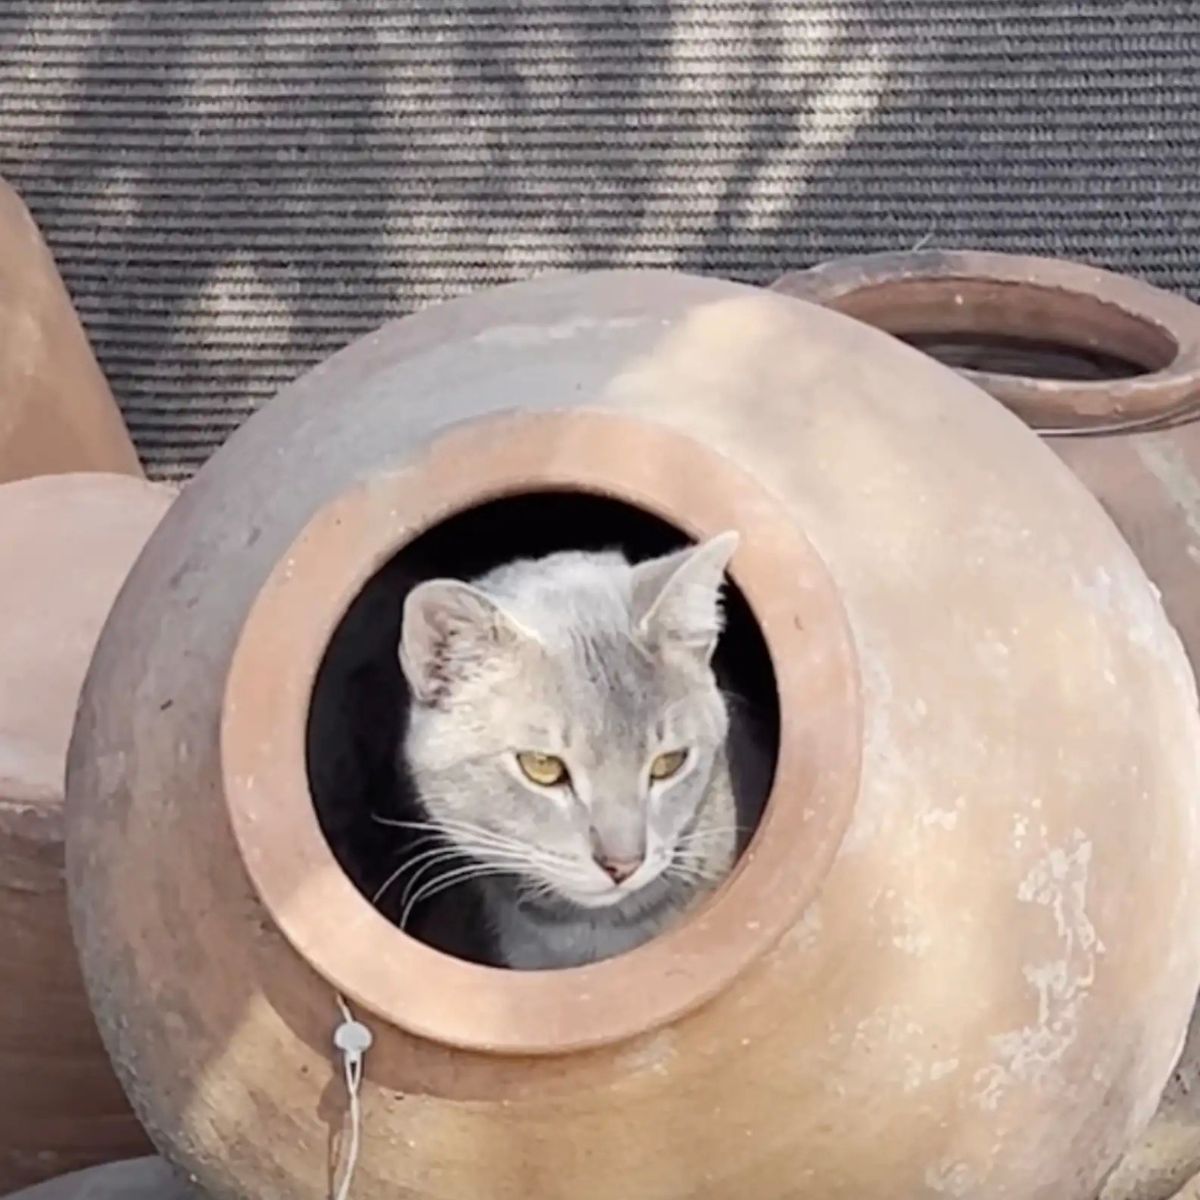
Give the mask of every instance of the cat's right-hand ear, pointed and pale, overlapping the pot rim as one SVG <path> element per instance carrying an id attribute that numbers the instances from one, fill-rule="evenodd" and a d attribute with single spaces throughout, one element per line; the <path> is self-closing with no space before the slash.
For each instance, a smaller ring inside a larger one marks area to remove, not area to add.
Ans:
<path id="1" fill-rule="evenodd" d="M 738 548 L 737 533 L 634 568 L 634 623 L 652 644 L 676 644 L 707 662 L 721 635 L 721 586 Z"/>

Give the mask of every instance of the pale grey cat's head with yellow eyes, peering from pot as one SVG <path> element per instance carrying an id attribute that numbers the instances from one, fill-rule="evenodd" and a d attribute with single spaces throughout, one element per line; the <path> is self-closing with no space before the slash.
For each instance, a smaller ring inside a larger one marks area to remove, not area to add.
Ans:
<path id="1" fill-rule="evenodd" d="M 630 565 L 565 552 L 404 602 L 404 757 L 428 816 L 532 895 L 604 908 L 728 869 L 710 661 L 728 533 Z"/>

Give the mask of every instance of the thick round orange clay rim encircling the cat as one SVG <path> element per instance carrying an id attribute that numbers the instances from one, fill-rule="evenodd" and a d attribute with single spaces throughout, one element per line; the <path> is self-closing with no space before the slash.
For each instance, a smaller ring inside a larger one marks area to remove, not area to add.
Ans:
<path id="1" fill-rule="evenodd" d="M 404 935 L 342 872 L 308 792 L 308 704 L 335 628 L 404 544 L 476 504 L 564 490 L 623 500 L 696 539 L 737 528 L 731 575 L 788 700 L 780 704 L 779 757 L 762 822 L 713 898 L 616 959 L 504 971 Z M 545 1055 L 659 1028 L 773 948 L 814 899 L 850 824 L 862 724 L 840 596 L 778 498 L 722 455 L 650 420 L 590 409 L 508 413 L 443 431 L 310 520 L 241 629 L 226 680 L 221 769 L 242 865 L 318 976 L 408 1033 L 458 1049 Z"/>

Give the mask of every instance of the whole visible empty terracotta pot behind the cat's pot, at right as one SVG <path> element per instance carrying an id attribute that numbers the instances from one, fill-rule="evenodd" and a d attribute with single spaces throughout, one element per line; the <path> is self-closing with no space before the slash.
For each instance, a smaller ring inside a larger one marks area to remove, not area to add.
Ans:
<path id="1" fill-rule="evenodd" d="M 847 258 L 774 290 L 917 344 L 1042 431 L 1200 664 L 1200 307 L 1078 263 L 977 251 Z"/>

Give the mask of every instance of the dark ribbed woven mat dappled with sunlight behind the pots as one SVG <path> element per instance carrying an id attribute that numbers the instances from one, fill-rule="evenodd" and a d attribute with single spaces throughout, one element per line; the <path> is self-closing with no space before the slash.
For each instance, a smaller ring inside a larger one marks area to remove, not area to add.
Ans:
<path id="1" fill-rule="evenodd" d="M 1200 295 L 1198 61 L 1195 0 L 0 0 L 0 173 L 179 479 L 385 318 L 551 266 L 924 240 Z"/>

